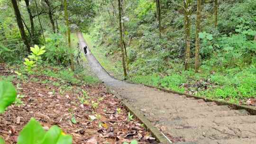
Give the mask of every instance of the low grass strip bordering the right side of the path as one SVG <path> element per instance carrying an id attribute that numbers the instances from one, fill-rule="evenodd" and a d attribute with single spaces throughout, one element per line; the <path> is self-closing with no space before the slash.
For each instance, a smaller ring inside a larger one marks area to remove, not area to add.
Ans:
<path id="1" fill-rule="evenodd" d="M 88 35 L 85 37 L 92 45 L 92 38 Z M 116 64 L 115 57 L 106 57 L 101 46 L 93 45 L 91 51 L 111 75 L 122 78 L 122 67 L 121 64 Z M 161 64 L 157 63 L 156 66 Z M 251 72 L 250 67 L 243 70 L 227 68 L 223 71 L 223 68 L 215 67 L 213 70 L 204 64 L 201 66 L 201 72 L 196 73 L 193 69 L 183 71 L 182 63 L 173 62 L 171 65 L 172 68 L 154 72 L 154 64 L 138 60 L 130 65 L 132 71 L 129 72 L 128 80 L 236 104 L 245 103 L 249 98 L 256 98 L 256 74 Z"/>

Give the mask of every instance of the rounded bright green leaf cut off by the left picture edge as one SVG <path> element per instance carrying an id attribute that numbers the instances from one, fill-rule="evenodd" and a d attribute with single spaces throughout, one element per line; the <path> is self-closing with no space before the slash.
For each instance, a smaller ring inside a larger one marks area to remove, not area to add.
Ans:
<path id="1" fill-rule="evenodd" d="M 16 90 L 11 82 L 0 81 L 0 114 L 16 99 Z"/>

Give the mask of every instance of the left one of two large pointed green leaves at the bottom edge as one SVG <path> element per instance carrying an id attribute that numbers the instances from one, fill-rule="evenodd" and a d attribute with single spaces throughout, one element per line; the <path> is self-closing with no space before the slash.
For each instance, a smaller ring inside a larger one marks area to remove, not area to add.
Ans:
<path id="1" fill-rule="evenodd" d="M 18 144 L 39 144 L 46 135 L 43 127 L 35 118 L 31 118 L 18 136 Z M 51 144 L 51 143 L 48 143 Z"/>

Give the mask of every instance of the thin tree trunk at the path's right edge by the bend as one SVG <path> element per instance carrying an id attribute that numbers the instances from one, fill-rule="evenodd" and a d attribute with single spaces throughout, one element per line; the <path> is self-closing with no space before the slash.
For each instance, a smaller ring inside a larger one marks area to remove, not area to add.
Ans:
<path id="1" fill-rule="evenodd" d="M 122 62 L 123 62 L 123 69 L 124 69 L 124 76 L 125 79 L 127 78 L 127 71 L 126 71 L 126 64 L 125 64 L 125 52 L 124 52 L 124 44 L 123 44 L 123 28 L 122 28 L 122 5 L 121 0 L 118 0 L 118 8 L 119 8 L 119 31 L 120 31 L 120 46 L 122 52 Z"/>

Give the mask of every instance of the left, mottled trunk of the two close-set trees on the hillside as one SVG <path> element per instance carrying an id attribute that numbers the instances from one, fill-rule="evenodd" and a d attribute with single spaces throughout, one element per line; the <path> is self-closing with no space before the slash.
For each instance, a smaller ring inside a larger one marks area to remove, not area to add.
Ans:
<path id="1" fill-rule="evenodd" d="M 191 0 L 183 0 L 184 2 L 184 30 L 186 39 L 186 57 L 185 70 L 188 70 L 190 63 L 190 15 L 191 15 Z"/>

